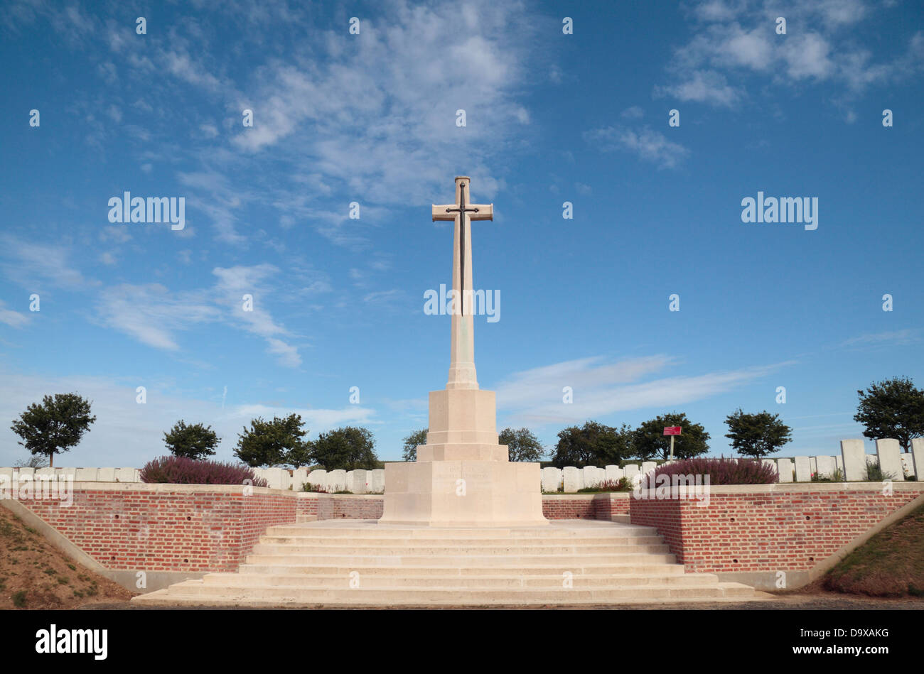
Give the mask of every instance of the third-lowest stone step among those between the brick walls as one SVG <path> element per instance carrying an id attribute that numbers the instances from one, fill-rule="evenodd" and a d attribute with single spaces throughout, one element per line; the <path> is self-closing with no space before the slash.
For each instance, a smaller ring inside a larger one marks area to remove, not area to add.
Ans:
<path id="1" fill-rule="evenodd" d="M 253 547 L 254 555 L 351 555 L 372 557 L 380 555 L 400 555 L 402 557 L 432 556 L 442 558 L 454 555 L 473 556 L 507 556 L 507 555 L 609 555 L 629 552 L 670 552 L 670 548 L 663 543 L 642 544 L 625 543 L 622 545 L 541 545 L 539 541 L 532 544 L 514 543 L 508 546 L 353 546 L 344 541 L 340 546 L 312 546 L 289 544 L 258 543 Z"/>

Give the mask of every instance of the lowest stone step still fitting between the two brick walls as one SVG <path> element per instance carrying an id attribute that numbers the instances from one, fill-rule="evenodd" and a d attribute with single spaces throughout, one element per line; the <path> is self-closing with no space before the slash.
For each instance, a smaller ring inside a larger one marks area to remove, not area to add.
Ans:
<path id="1" fill-rule="evenodd" d="M 434 574 L 434 575 L 452 575 L 461 577 L 479 577 L 496 575 L 499 569 L 507 575 L 548 575 L 556 574 L 561 577 L 562 572 L 570 571 L 577 578 L 579 575 L 590 574 L 670 574 L 681 575 L 684 573 L 682 564 L 665 564 L 663 562 L 653 564 L 606 564 L 600 566 L 552 566 L 552 565 L 532 565 L 532 566 L 505 566 L 499 567 L 496 564 L 485 565 L 482 567 L 458 567 L 458 566 L 418 566 L 414 567 L 414 575 Z M 315 575 L 334 575 L 344 577 L 349 572 L 359 572 L 361 575 L 375 575 L 382 577 L 404 576 L 408 574 L 407 569 L 401 566 L 322 566 L 322 565 L 300 565 L 300 564 L 241 564 L 240 573 L 274 573 L 274 574 L 315 574 Z"/>

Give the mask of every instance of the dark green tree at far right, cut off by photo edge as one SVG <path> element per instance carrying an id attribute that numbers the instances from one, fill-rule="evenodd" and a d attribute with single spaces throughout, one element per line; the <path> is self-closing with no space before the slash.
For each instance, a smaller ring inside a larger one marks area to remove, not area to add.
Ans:
<path id="1" fill-rule="evenodd" d="M 854 421 L 866 427 L 867 438 L 896 438 L 910 451 L 911 440 L 924 435 L 924 391 L 918 391 L 911 379 L 878 381 L 857 395 L 860 403 Z"/>

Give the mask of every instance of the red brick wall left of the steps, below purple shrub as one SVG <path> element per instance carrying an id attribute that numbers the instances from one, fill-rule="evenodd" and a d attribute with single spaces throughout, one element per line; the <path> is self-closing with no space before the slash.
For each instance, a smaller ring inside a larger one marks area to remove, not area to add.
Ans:
<path id="1" fill-rule="evenodd" d="M 272 524 L 296 521 L 294 494 L 254 489 L 75 489 L 73 504 L 20 502 L 107 569 L 235 571 Z"/>

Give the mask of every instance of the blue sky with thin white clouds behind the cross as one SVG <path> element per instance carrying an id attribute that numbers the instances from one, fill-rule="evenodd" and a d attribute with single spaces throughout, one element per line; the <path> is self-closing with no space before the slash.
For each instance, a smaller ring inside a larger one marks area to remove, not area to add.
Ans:
<path id="1" fill-rule="evenodd" d="M 857 389 L 924 384 L 917 3 L 7 6 L 0 418 L 89 397 L 56 463 L 140 465 L 179 418 L 230 459 L 251 418 L 291 412 L 399 458 L 445 385 L 449 318 L 423 295 L 451 283 L 431 204 L 456 175 L 494 205 L 473 261 L 501 295 L 475 327 L 498 428 L 551 446 L 683 411 L 727 455 L 740 406 L 794 428 L 782 455 L 833 454 Z M 184 229 L 110 223 L 125 191 L 184 197 Z M 818 228 L 742 223 L 759 191 L 819 199 Z M 0 425 L 0 464 L 16 440 Z"/>

